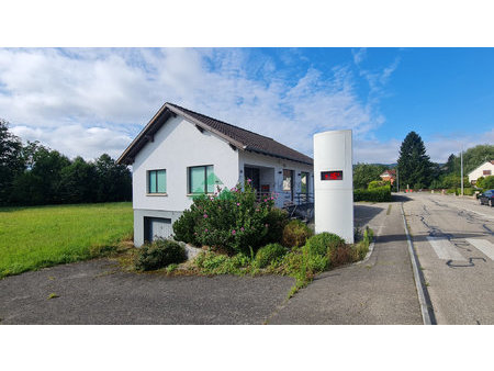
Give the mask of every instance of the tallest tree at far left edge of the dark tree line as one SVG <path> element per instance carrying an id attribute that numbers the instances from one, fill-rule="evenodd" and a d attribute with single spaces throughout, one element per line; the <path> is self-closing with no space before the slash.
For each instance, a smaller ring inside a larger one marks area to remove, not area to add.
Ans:
<path id="1" fill-rule="evenodd" d="M 0 205 L 8 203 L 15 177 L 24 169 L 21 139 L 10 133 L 9 122 L 0 119 Z"/>

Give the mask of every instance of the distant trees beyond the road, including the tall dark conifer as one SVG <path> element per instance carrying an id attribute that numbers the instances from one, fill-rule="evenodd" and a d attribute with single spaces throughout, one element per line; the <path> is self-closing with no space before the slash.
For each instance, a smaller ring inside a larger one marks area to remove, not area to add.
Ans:
<path id="1" fill-rule="evenodd" d="M 478 145 L 463 153 L 463 184 L 470 187 L 468 173 L 485 161 L 494 159 L 493 145 Z M 461 184 L 460 154 L 451 154 L 446 164 L 436 164 L 427 155 L 422 137 L 411 132 L 400 147 L 394 167 L 400 173 L 400 189 L 454 189 Z M 389 169 L 385 165 L 357 164 L 353 167 L 353 188 L 363 189 Z M 394 184 L 396 190 L 396 182 Z"/>

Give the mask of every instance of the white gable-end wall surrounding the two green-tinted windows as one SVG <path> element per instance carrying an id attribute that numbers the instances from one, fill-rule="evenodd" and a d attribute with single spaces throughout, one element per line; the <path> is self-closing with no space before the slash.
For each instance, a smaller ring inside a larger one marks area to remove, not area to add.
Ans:
<path id="1" fill-rule="evenodd" d="M 134 209 L 183 211 L 188 193 L 188 167 L 213 165 L 214 173 L 232 188 L 238 182 L 238 150 L 207 131 L 201 133 L 181 116 L 168 120 L 137 154 L 133 164 Z M 167 194 L 147 194 L 147 170 L 167 170 Z"/>

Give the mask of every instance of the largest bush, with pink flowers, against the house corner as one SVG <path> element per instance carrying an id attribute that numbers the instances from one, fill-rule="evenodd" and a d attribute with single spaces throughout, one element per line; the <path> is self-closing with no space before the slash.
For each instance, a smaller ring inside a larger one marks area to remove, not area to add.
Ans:
<path id="1" fill-rule="evenodd" d="M 248 255 L 270 241 L 278 241 L 287 214 L 274 211 L 274 198 L 256 202 L 249 182 L 214 195 L 193 199 L 190 210 L 173 223 L 177 239 L 206 245 L 229 255 Z M 271 224 L 272 223 L 272 224 Z"/>

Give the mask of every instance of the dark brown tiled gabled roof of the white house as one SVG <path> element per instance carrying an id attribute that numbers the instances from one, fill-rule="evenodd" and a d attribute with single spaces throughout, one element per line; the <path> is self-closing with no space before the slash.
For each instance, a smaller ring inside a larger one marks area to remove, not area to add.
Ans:
<path id="1" fill-rule="evenodd" d="M 148 137 L 148 135 L 146 134 L 150 132 L 156 133 L 156 131 L 159 130 L 159 127 L 161 127 L 164 122 L 168 120 L 169 116 L 167 116 L 167 119 L 165 120 L 161 120 L 161 123 L 159 124 L 160 116 L 164 114 L 166 115 L 167 112 L 168 114 L 170 114 L 169 112 L 172 112 L 172 114 L 179 114 L 186 117 L 187 120 L 200 126 L 202 130 L 210 131 L 223 137 L 232 146 L 238 149 L 263 154 L 268 156 L 274 156 L 307 165 L 313 165 L 313 159 L 311 157 L 305 156 L 304 154 L 301 154 L 300 151 L 296 151 L 290 147 L 287 147 L 272 138 L 249 132 L 245 128 L 231 125 L 223 121 L 203 115 L 194 111 L 190 111 L 188 109 L 184 109 L 182 106 L 172 103 L 165 103 L 161 110 L 151 119 L 151 121 L 146 125 L 146 127 L 139 133 L 137 138 L 134 139 L 134 142 L 128 146 L 127 149 L 125 149 L 123 155 L 119 158 L 117 160 L 119 162 L 128 164 L 130 159 L 132 161 L 132 158 L 135 156 L 135 154 L 138 150 L 141 150 L 141 148 L 145 145 L 146 142 L 143 140 L 146 140 L 146 137 Z M 155 125 L 154 124 L 155 122 L 157 122 L 158 124 Z M 156 127 L 154 128 L 154 126 Z"/>

